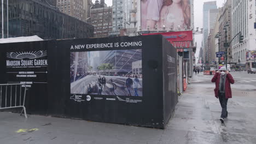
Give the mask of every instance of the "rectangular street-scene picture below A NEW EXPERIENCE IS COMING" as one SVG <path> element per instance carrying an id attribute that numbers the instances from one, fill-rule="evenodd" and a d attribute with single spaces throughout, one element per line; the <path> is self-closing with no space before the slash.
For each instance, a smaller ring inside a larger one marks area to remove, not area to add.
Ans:
<path id="1" fill-rule="evenodd" d="M 142 50 L 71 52 L 71 93 L 142 96 Z"/>

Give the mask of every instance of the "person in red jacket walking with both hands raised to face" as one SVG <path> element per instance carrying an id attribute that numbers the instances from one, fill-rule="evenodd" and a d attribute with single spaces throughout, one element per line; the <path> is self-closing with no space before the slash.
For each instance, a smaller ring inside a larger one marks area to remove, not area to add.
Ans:
<path id="1" fill-rule="evenodd" d="M 235 81 L 229 71 L 222 67 L 215 73 L 212 82 L 215 82 L 216 85 L 214 89 L 215 97 L 219 98 L 220 106 L 222 106 L 222 115 L 219 120 L 224 123 L 224 119 L 228 117 L 226 105 L 228 104 L 228 99 L 232 98 L 230 83 L 234 84 Z"/>

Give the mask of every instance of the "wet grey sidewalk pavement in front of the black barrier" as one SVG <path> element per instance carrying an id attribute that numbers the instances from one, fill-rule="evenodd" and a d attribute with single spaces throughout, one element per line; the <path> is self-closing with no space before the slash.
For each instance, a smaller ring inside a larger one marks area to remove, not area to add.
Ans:
<path id="1" fill-rule="evenodd" d="M 232 85 L 229 117 L 219 122 L 220 105 L 213 96 L 212 76 L 195 75 L 179 97 L 165 130 L 0 112 L 0 143 L 256 143 L 256 89 Z"/>

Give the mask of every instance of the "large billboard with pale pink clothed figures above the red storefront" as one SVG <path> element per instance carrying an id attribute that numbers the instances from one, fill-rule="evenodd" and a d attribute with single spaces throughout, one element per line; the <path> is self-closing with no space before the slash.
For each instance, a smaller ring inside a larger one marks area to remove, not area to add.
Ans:
<path id="1" fill-rule="evenodd" d="M 190 0 L 141 0 L 141 28 L 190 28 Z"/>

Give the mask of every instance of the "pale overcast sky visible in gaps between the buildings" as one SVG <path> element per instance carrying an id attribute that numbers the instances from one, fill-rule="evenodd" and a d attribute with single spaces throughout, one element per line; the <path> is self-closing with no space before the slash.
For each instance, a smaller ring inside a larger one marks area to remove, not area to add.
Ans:
<path id="1" fill-rule="evenodd" d="M 92 0 L 94 1 L 94 0 Z M 203 2 L 209 2 L 213 0 L 194 0 L 194 27 L 199 27 L 199 29 L 202 28 L 202 9 L 203 9 Z M 217 7 L 222 7 L 222 5 L 225 3 L 226 0 L 216 0 L 217 1 Z M 106 4 L 108 6 L 112 5 L 112 0 L 105 0 Z M 195 41 L 197 43 L 197 50 L 196 50 L 196 57 L 199 56 L 199 50 L 201 47 L 202 42 L 202 34 L 195 35 Z"/>

